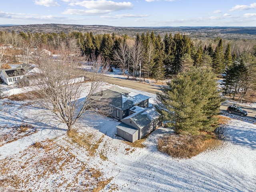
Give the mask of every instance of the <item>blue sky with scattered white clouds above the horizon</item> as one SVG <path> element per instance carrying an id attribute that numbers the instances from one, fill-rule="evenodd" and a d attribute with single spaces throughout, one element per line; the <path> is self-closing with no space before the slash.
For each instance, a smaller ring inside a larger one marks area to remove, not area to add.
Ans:
<path id="1" fill-rule="evenodd" d="M 0 24 L 256 26 L 256 0 L 2 0 Z"/>

